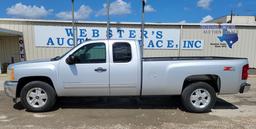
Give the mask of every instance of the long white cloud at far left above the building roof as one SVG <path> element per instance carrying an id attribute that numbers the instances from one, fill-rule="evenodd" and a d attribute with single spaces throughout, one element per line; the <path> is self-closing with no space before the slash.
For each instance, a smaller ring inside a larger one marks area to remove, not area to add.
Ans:
<path id="1" fill-rule="evenodd" d="M 43 18 L 53 12 L 52 9 L 45 9 L 44 6 L 25 5 L 16 3 L 15 5 L 6 9 L 6 13 L 18 18 Z"/>

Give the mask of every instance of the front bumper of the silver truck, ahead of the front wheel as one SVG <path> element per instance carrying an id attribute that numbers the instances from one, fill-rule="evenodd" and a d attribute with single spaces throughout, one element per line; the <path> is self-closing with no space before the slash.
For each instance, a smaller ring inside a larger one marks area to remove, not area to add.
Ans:
<path id="1" fill-rule="evenodd" d="M 5 81 L 4 82 L 5 94 L 13 99 L 16 99 L 17 85 L 18 85 L 18 82 L 16 81 Z"/>

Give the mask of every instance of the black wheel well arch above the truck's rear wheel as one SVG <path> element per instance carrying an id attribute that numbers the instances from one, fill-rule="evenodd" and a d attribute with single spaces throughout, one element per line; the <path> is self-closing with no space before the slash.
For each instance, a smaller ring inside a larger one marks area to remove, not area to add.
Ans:
<path id="1" fill-rule="evenodd" d="M 182 91 L 191 83 L 195 83 L 195 82 L 206 82 L 209 85 L 211 85 L 216 93 L 220 92 L 220 88 L 221 88 L 221 80 L 220 77 L 218 75 L 211 75 L 211 74 L 206 74 L 206 75 L 192 75 L 192 76 L 188 76 L 184 83 L 183 83 L 183 87 L 182 87 Z"/>

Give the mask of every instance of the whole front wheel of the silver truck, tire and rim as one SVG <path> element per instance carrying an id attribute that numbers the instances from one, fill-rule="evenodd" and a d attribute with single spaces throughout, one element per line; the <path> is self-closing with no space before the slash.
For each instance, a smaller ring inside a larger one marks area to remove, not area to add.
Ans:
<path id="1" fill-rule="evenodd" d="M 42 81 L 32 81 L 21 90 L 21 103 L 28 111 L 45 112 L 56 102 L 56 93 L 52 86 Z"/>

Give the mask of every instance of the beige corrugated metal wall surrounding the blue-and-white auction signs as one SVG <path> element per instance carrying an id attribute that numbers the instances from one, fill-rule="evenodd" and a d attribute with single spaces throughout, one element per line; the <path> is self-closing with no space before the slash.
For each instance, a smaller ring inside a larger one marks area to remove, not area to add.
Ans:
<path id="1" fill-rule="evenodd" d="M 40 21 L 7 21 L 0 20 L 0 28 L 9 30 L 16 30 L 23 32 L 26 59 L 49 58 L 65 53 L 70 48 L 46 48 L 35 47 L 34 43 L 34 25 L 49 25 L 49 26 L 70 26 L 69 23 L 62 22 L 40 22 Z M 88 27 L 106 27 L 105 24 L 84 24 L 80 23 L 78 26 Z M 138 24 L 115 24 L 112 27 L 131 27 L 140 28 Z M 146 28 L 181 28 L 181 25 L 147 25 Z M 231 57 L 247 57 L 250 61 L 251 67 L 256 67 L 256 26 L 236 26 L 239 33 L 239 41 L 230 48 L 215 48 L 210 45 L 213 42 L 220 42 L 217 34 L 204 34 L 200 25 L 182 25 L 181 40 L 182 39 L 201 39 L 204 40 L 204 49 L 202 50 L 145 50 L 144 56 L 231 56 Z"/>

